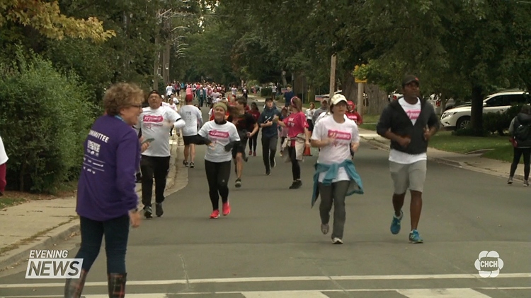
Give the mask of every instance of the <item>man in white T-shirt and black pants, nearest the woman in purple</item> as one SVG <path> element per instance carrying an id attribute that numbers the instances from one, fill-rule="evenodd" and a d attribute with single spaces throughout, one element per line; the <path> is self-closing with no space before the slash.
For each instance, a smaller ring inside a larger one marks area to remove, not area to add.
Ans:
<path id="1" fill-rule="evenodd" d="M 149 148 L 142 153 L 140 170 L 142 171 L 142 204 L 144 204 L 144 216 L 151 218 L 153 178 L 155 179 L 155 213 L 161 217 L 162 202 L 164 201 L 164 189 L 166 189 L 166 176 L 170 167 L 170 136 L 168 130 L 175 126 L 181 129 L 185 121 L 181 115 L 169 107 L 163 107 L 162 97 L 156 90 L 149 93 L 147 99 L 149 107 L 142 109 L 138 119 L 137 128 L 142 129 L 144 140 L 151 140 Z"/>

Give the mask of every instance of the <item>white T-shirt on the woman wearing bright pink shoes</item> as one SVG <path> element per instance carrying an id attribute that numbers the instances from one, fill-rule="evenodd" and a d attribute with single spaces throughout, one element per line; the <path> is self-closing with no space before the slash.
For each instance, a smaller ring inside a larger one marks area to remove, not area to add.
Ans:
<path id="1" fill-rule="evenodd" d="M 199 135 L 208 138 L 214 143 L 207 146 L 205 160 L 209 162 L 229 162 L 232 160 L 232 151 L 225 151 L 225 145 L 233 141 L 240 141 L 236 126 L 227 121 L 225 124 L 216 124 L 214 120 L 208 121 L 199 130 Z"/>

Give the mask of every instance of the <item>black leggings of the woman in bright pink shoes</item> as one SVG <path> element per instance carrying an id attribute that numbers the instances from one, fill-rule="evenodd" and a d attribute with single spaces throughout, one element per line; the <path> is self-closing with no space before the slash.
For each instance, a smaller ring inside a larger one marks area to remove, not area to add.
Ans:
<path id="1" fill-rule="evenodd" d="M 205 160 L 205 172 L 207 172 L 208 194 L 212 202 L 212 210 L 219 210 L 219 196 L 222 202 L 229 201 L 229 178 L 231 175 L 231 162 L 210 162 Z"/>

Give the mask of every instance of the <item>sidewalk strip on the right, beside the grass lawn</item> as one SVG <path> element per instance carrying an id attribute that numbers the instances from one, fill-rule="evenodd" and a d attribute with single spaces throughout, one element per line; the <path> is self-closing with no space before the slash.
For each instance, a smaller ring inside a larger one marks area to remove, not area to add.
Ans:
<path id="1" fill-rule="evenodd" d="M 376 131 L 360 129 L 360 137 L 380 149 L 389 150 L 390 141 L 387 138 L 379 136 Z M 499 177 L 509 177 L 510 162 L 491 160 L 490 158 L 481 157 L 481 154 L 452 153 L 428 147 L 428 159 L 462 169 L 469 169 Z M 514 178 L 519 180 L 524 179 L 523 174 L 515 174 Z"/>

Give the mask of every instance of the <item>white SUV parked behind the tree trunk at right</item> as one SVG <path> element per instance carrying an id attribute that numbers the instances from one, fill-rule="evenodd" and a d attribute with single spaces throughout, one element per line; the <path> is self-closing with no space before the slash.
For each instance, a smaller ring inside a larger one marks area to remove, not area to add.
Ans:
<path id="1" fill-rule="evenodd" d="M 530 102 L 529 93 L 524 91 L 508 91 L 489 95 L 483 100 L 483 112 L 505 112 L 511 105 L 521 105 Z M 440 123 L 445 129 L 464 129 L 470 123 L 470 105 L 447 109 L 440 117 Z"/>

